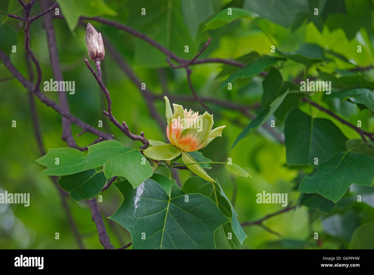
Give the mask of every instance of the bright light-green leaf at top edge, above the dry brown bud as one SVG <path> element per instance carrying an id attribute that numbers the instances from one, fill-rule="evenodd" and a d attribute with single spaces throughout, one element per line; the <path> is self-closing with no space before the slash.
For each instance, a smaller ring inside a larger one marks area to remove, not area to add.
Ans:
<path id="1" fill-rule="evenodd" d="M 77 27 L 80 16 L 117 14 L 103 0 L 58 0 L 58 4 L 71 32 Z"/>

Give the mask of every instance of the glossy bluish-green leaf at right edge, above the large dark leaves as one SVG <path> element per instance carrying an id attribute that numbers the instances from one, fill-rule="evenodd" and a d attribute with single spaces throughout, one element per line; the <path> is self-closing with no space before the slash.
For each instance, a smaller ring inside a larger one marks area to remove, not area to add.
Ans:
<path id="1" fill-rule="evenodd" d="M 339 98 L 341 101 L 350 100 L 356 104 L 364 104 L 370 111 L 374 112 L 374 90 L 373 89 L 349 89 L 338 91 L 326 98 Z"/>

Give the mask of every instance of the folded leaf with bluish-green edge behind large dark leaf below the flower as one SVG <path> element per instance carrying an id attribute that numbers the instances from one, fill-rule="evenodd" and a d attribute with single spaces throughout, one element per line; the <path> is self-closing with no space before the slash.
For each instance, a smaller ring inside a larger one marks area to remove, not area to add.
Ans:
<path id="1" fill-rule="evenodd" d="M 229 242 L 229 245 L 235 247 L 237 241 L 240 245 L 243 244 L 247 235 L 242 229 L 242 226 L 240 226 L 240 223 L 237 220 L 236 211 L 234 210 L 229 198 L 227 198 L 226 194 L 223 192 L 218 180 L 216 180 L 216 182 L 209 182 L 202 178 L 192 176 L 183 184 L 182 191 L 185 193 L 199 193 L 214 201 L 220 208 L 221 212 L 232 220 L 230 225 L 232 230 L 230 232 L 234 233 L 234 235 L 230 240 L 227 239 L 227 234 L 225 237 L 227 242 Z M 221 238 L 222 236 L 219 237 Z M 221 239 L 221 241 L 223 240 Z"/>

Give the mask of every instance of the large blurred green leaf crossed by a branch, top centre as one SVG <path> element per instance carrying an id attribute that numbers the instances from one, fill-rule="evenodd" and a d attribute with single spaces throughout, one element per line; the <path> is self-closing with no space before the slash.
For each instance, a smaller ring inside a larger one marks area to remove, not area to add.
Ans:
<path id="1" fill-rule="evenodd" d="M 146 10 L 146 15 L 141 15 L 142 8 Z M 178 56 L 191 59 L 196 55 L 197 46 L 191 37 L 191 33 L 196 31 L 199 22 L 194 25 L 186 24 L 183 18 L 181 1 L 128 1 L 126 9 L 129 11 L 126 25 L 146 34 Z M 184 52 L 186 45 L 189 48 L 187 53 Z M 136 65 L 143 67 L 168 66 L 165 54 L 142 39 L 136 40 L 134 61 Z"/>

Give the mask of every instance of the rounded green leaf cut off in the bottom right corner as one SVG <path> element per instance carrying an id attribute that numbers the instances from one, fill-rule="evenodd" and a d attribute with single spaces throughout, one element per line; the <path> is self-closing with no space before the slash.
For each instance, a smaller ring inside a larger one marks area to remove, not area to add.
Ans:
<path id="1" fill-rule="evenodd" d="M 374 221 L 357 227 L 349 242 L 349 249 L 374 249 Z"/>

